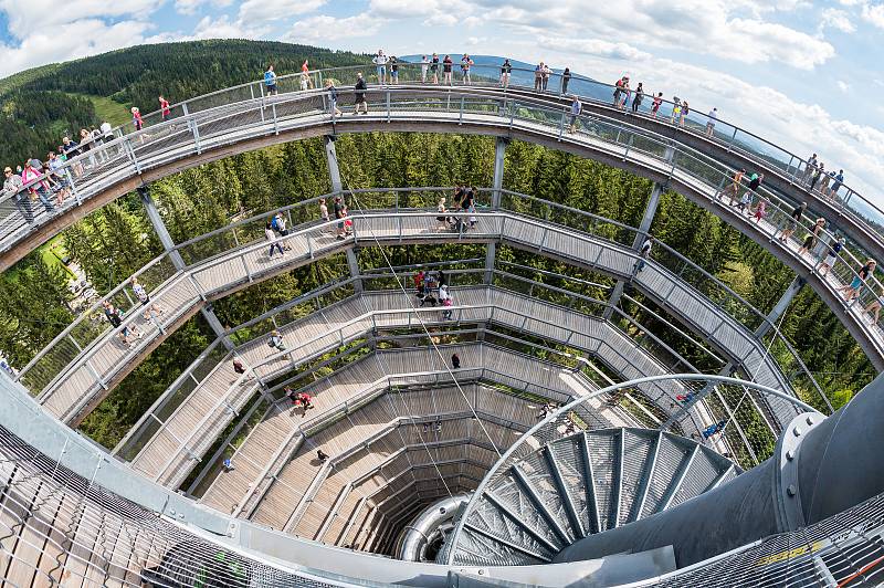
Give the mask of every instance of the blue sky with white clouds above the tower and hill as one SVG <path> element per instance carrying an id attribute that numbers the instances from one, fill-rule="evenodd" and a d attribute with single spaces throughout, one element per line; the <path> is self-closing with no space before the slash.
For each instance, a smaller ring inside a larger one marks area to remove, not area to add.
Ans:
<path id="1" fill-rule="evenodd" d="M 884 0 L 0 0 L 0 76 L 165 41 L 507 55 L 718 108 L 884 208 Z M 24 9 L 23 9 L 24 8 Z M 286 72 L 281 72 L 286 73 Z M 261 72 L 256 72 L 259 77 Z"/>

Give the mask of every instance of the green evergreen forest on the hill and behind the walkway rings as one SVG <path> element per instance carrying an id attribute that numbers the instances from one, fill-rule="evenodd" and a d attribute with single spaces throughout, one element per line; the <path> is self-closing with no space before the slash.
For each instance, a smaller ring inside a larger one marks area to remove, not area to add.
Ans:
<path id="1" fill-rule="evenodd" d="M 143 107 L 147 112 L 160 93 L 172 101 L 185 99 L 255 80 L 267 63 L 274 63 L 278 73 L 296 71 L 304 59 L 313 67 L 367 61 L 365 55 L 285 43 L 204 41 L 138 46 L 19 74 L 0 82 L 0 129 L 7 139 L 0 145 L 0 162 L 43 153 L 57 145 L 63 134 L 99 123 L 103 117 L 96 108 L 106 108 L 107 102 L 149 105 Z M 336 140 L 345 187 L 352 189 L 488 187 L 494 148 L 492 138 L 460 135 L 359 134 Z M 652 186 L 591 160 L 514 141 L 506 153 L 504 187 L 638 227 Z M 172 239 L 181 243 L 330 189 L 322 139 L 305 139 L 183 171 L 155 182 L 151 193 Z M 435 197 L 406 192 L 400 204 L 432 209 Z M 372 198 L 369 193 L 358 201 L 350 199 L 349 204 L 354 210 L 370 208 L 378 204 Z M 513 206 L 552 214 L 556 220 L 554 211 L 526 202 Z M 298 220 L 316 219 L 318 208 L 311 204 L 299 214 Z M 750 239 L 674 192 L 664 192 L 651 233 L 765 313 L 793 277 Z M 387 253 L 393 265 L 409 265 L 482 258 L 484 246 L 388 248 Z M 0 276 L 0 349 L 13 366 L 24 366 L 73 321 L 77 308 L 64 262 L 77 264 L 103 294 L 160 254 L 162 246 L 136 193 L 90 214 Z M 601 274 L 524 251 L 499 248 L 497 259 L 522 266 L 525 277 L 591 297 L 606 300 L 612 285 Z M 358 260 L 362 270 L 386 265 L 377 248 L 359 250 Z M 346 261 L 332 256 L 218 301 L 214 312 L 222 325 L 232 327 L 346 275 Z M 673 334 L 661 321 L 665 311 L 651 301 L 630 292 L 621 307 L 698 368 L 718 367 Z M 780 330 L 836 406 L 874 377 L 860 347 L 809 287 L 791 303 Z M 213 339 L 199 314 L 189 319 L 112 390 L 82 430 L 113 448 Z M 781 351 L 771 348 L 778 358 Z"/>

